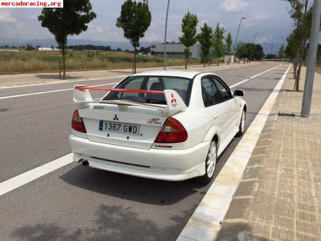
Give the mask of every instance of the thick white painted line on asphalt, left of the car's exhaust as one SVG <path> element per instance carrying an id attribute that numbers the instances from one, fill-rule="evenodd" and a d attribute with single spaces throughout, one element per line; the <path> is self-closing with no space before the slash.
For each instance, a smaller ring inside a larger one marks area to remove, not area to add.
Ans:
<path id="1" fill-rule="evenodd" d="M 0 196 L 73 162 L 72 153 L 0 183 Z"/>

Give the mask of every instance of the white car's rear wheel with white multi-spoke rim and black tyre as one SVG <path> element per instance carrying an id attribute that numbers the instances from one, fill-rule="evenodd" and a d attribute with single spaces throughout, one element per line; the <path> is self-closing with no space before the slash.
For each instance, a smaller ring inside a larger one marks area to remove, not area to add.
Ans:
<path id="1" fill-rule="evenodd" d="M 209 147 L 209 152 L 206 157 L 205 161 L 205 174 L 202 177 L 198 177 L 197 181 L 201 183 L 209 183 L 212 181 L 215 167 L 217 163 L 217 145 L 216 142 L 213 140 Z"/>

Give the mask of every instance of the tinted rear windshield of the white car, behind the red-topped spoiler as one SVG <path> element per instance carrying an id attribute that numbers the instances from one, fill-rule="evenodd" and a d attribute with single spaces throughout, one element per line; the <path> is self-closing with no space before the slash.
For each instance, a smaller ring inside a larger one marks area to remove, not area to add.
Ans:
<path id="1" fill-rule="evenodd" d="M 192 79 L 166 76 L 132 76 L 123 80 L 115 88 L 118 89 L 142 89 L 142 90 L 175 90 L 188 106 L 192 88 Z M 166 104 L 164 94 L 145 94 L 110 92 L 103 100 L 128 99 L 140 103 Z"/>

